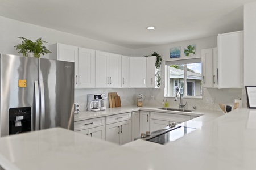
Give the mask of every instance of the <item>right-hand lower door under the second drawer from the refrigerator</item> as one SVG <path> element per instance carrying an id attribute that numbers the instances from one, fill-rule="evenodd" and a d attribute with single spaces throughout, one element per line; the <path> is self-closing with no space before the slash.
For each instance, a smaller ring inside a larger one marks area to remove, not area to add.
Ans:
<path id="1" fill-rule="evenodd" d="M 120 125 L 120 145 L 131 142 L 131 121 L 123 121 Z"/>

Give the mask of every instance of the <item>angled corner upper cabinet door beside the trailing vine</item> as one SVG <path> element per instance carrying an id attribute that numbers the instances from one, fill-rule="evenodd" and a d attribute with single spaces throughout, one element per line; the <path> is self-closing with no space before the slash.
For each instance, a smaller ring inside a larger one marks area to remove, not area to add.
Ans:
<path id="1" fill-rule="evenodd" d="M 147 58 L 130 57 L 130 87 L 147 87 Z"/>

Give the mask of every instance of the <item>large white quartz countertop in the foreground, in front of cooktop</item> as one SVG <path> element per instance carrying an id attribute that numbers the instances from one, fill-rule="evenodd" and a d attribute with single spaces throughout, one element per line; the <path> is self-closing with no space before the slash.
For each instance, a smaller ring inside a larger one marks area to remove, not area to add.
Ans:
<path id="1" fill-rule="evenodd" d="M 187 124 L 199 122 L 201 128 L 167 145 L 118 146 L 61 128 L 12 135 L 0 138 L 0 164 L 6 170 L 256 169 L 256 109 L 204 114 Z"/>

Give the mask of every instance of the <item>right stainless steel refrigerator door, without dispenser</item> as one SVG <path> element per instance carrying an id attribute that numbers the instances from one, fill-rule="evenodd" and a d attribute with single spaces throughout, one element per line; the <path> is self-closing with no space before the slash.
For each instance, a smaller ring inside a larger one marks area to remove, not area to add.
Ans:
<path id="1" fill-rule="evenodd" d="M 39 59 L 42 129 L 62 127 L 74 129 L 74 63 Z M 44 90 L 44 96 L 42 96 Z M 44 99 L 43 99 L 44 97 Z"/>

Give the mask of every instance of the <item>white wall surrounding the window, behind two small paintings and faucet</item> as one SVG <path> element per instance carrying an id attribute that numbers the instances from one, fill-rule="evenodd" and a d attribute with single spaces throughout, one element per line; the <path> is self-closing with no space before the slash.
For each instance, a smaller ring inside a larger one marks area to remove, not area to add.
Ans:
<path id="1" fill-rule="evenodd" d="M 154 105 L 161 105 L 162 100 L 167 99 L 170 103 L 170 107 L 179 107 L 179 100 L 174 101 L 174 97 L 166 97 L 164 98 L 164 63 L 165 61 L 171 61 L 176 59 L 185 59 L 185 58 L 192 58 L 187 57 L 184 55 L 184 46 L 187 46 L 189 44 L 196 44 L 196 55 L 193 56 L 194 58 L 201 57 L 201 50 L 207 49 L 207 48 L 214 48 L 217 46 L 217 35 L 212 37 L 205 37 L 202 39 L 196 39 L 196 40 L 189 40 L 189 41 L 181 41 L 181 42 L 175 42 L 170 43 L 166 45 L 160 45 L 160 46 L 152 46 L 150 48 L 143 48 L 138 49 L 135 52 L 135 56 L 147 56 L 151 55 L 152 53 L 156 52 L 159 53 L 160 56 L 162 56 L 163 62 L 162 62 L 162 88 L 160 89 L 139 89 L 137 88 L 135 90 L 135 95 L 137 94 L 143 94 L 144 95 L 144 103 L 145 104 L 154 104 Z M 181 57 L 170 59 L 170 48 L 180 46 L 181 47 Z M 204 109 L 204 110 L 218 110 L 221 111 L 220 107 L 218 106 L 218 103 L 224 103 L 232 105 L 234 104 L 234 99 L 239 99 L 242 96 L 241 90 L 219 90 L 219 89 L 210 89 L 210 88 L 203 88 L 203 99 L 185 99 L 185 101 L 188 102 L 187 107 L 189 109 L 192 109 L 193 106 L 196 106 L 197 109 Z M 150 96 L 154 96 L 155 100 L 150 100 Z M 206 104 L 205 98 L 206 97 L 212 97 L 215 99 L 215 104 Z"/>

